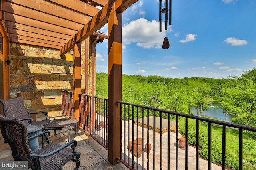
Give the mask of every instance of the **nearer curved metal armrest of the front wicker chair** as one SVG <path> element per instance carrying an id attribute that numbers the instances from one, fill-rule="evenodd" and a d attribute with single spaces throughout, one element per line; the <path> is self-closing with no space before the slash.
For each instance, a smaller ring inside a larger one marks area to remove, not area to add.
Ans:
<path id="1" fill-rule="evenodd" d="M 71 145 L 71 144 L 72 144 L 72 145 Z M 63 150 L 64 148 L 68 147 L 69 145 L 71 145 L 71 148 L 73 149 L 73 154 L 74 154 L 75 156 L 80 155 L 80 152 L 76 152 L 76 151 L 75 151 L 75 148 L 76 148 L 76 146 L 77 146 L 76 140 L 72 140 L 72 141 L 68 142 L 67 144 L 61 146 L 60 148 L 58 148 L 58 149 L 56 149 L 56 150 L 54 150 L 54 151 L 52 151 L 52 152 L 50 152 L 50 153 L 48 153 L 48 154 L 44 154 L 44 155 L 30 154 L 30 155 L 28 156 L 28 158 L 29 158 L 30 160 L 32 160 L 32 159 L 34 159 L 34 158 L 47 158 L 47 157 L 49 157 L 49 156 L 51 156 L 51 155 L 53 155 L 53 154 L 56 154 L 57 152 L 60 152 L 60 151 Z"/>

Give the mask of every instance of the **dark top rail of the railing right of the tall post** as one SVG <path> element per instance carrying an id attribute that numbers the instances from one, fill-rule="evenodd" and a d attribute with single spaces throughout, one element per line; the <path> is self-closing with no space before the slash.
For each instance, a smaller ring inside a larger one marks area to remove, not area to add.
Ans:
<path id="1" fill-rule="evenodd" d="M 125 105 L 140 107 L 140 108 L 144 108 L 144 109 L 150 109 L 150 110 L 154 110 L 154 111 L 158 111 L 158 112 L 162 112 L 162 113 L 168 113 L 168 114 L 172 114 L 172 115 L 178 115 L 178 116 L 182 116 L 182 117 L 188 117 L 188 118 L 191 118 L 191 119 L 196 119 L 196 120 L 199 120 L 199 121 L 205 121 L 205 122 L 209 122 L 209 123 L 215 123 L 215 124 L 223 125 L 223 126 L 227 126 L 227 127 L 233 127 L 233 128 L 238 128 L 238 129 L 243 129 L 243 130 L 249 130 L 249 131 L 252 131 L 252 132 L 256 132 L 256 128 L 254 128 L 254 127 L 248 127 L 248 126 L 239 125 L 239 124 L 236 124 L 236 123 L 218 121 L 218 120 L 214 120 L 214 119 L 210 119 L 210 118 L 188 115 L 188 114 L 185 114 L 185 113 L 167 111 L 167 110 L 164 110 L 164 109 L 158 109 L 158 108 L 154 108 L 154 107 L 148 107 L 148 106 L 143 106 L 143 105 L 136 105 L 136 104 L 132 104 L 132 103 L 126 103 L 126 102 L 123 102 L 123 101 L 117 101 L 117 103 L 122 103 L 122 104 L 125 104 Z"/>

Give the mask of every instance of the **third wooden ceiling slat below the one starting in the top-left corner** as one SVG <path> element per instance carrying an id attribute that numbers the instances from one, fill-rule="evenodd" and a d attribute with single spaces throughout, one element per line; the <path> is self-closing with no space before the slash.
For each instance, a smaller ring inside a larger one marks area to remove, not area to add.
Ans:
<path id="1" fill-rule="evenodd" d="M 51 40 L 52 42 L 59 42 L 59 43 L 66 43 L 67 42 L 67 40 L 64 40 L 64 39 L 61 39 L 61 38 L 44 36 L 42 34 L 35 34 L 35 33 L 32 33 L 32 32 L 26 32 L 26 31 L 22 31 L 22 30 L 15 30 L 13 28 L 9 28 L 8 33 L 27 36 L 27 37 L 32 37 L 32 38 L 38 38 L 38 39 L 42 39 L 42 40 Z"/>

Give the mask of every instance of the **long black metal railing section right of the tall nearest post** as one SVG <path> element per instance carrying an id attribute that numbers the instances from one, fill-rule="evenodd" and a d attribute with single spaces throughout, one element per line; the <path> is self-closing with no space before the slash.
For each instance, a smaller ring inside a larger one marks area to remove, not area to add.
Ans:
<path id="1" fill-rule="evenodd" d="M 207 123 L 208 161 L 204 163 L 206 165 L 203 167 L 207 169 L 208 166 L 210 170 L 214 169 L 212 166 L 216 166 L 212 164 L 212 126 L 219 125 L 222 127 L 222 146 L 220 146 L 222 147 L 222 169 L 226 169 L 226 128 L 234 128 L 239 131 L 239 169 L 243 169 L 243 131 L 256 132 L 256 128 L 121 101 L 117 103 L 118 107 L 121 107 L 120 117 L 122 119 L 121 157 L 118 159 L 128 166 L 128 168 L 167 170 L 178 170 L 179 168 L 185 168 L 186 170 L 193 168 L 198 170 L 200 167 L 202 168 L 202 162 L 200 160 L 199 124 Z M 171 118 L 174 120 L 175 127 L 171 127 L 171 123 L 173 123 Z M 181 137 L 181 134 L 179 134 L 179 120 L 181 118 L 185 119 L 184 131 L 186 137 L 184 150 L 181 150 L 182 148 L 179 145 L 179 138 Z M 166 124 L 166 120 L 167 128 L 164 128 L 163 125 Z M 196 138 L 194 144 L 196 151 L 192 155 L 195 158 L 195 162 L 190 161 L 191 154 L 188 152 L 187 134 L 190 133 L 188 131 L 188 121 L 190 120 L 196 121 L 196 134 L 192 136 Z M 175 139 L 174 141 L 173 138 Z M 138 140 L 141 140 L 141 144 L 137 142 Z M 144 149 L 145 144 L 152 145 L 151 153 L 146 152 L 146 148 Z M 175 153 L 173 153 L 174 150 Z M 140 153 L 141 151 L 142 153 Z M 179 157 L 180 154 L 182 154 L 182 158 Z M 172 162 L 172 160 L 175 160 L 175 162 Z"/>

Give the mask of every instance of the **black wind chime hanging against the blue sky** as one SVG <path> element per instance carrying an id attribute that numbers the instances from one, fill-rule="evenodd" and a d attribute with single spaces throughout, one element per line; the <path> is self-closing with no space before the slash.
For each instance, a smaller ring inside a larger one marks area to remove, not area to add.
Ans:
<path id="1" fill-rule="evenodd" d="M 168 12 L 169 12 L 169 25 L 172 25 L 172 0 L 169 3 L 168 9 L 168 2 L 169 0 L 165 0 L 164 6 L 165 8 L 162 9 L 162 0 L 159 0 L 159 28 L 160 32 L 162 32 L 162 13 L 165 14 L 165 38 L 163 42 L 163 49 L 168 49 L 170 47 L 170 41 L 168 37 L 166 37 L 166 30 L 167 30 L 167 22 L 168 22 Z"/>

